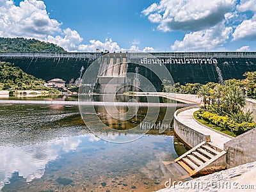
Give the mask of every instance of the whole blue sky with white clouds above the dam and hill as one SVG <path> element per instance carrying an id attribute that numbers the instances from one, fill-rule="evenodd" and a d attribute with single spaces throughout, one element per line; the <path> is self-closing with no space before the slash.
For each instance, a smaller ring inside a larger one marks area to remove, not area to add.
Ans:
<path id="1" fill-rule="evenodd" d="M 67 51 L 255 51 L 256 0 L 0 0 L 0 36 Z"/>

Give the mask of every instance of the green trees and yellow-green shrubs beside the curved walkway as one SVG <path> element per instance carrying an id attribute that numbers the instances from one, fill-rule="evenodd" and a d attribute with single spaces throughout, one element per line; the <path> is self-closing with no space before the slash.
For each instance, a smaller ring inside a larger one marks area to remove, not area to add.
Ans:
<path id="1" fill-rule="evenodd" d="M 243 111 L 246 97 L 256 98 L 256 72 L 246 72 L 243 80 L 228 79 L 223 84 L 170 84 L 164 80 L 163 92 L 195 94 L 204 104 L 194 117 L 198 122 L 230 136 L 239 136 L 256 127 L 251 111 Z"/>

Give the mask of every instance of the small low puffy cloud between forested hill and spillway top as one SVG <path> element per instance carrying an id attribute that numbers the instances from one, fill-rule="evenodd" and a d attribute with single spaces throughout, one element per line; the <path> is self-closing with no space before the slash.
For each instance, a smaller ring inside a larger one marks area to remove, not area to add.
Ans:
<path id="1" fill-rule="evenodd" d="M 100 42 L 99 40 L 90 40 L 88 45 L 78 45 L 77 51 L 83 52 L 94 52 L 96 49 L 101 51 L 108 50 L 110 52 L 120 51 L 120 47 L 116 42 L 113 42 L 111 38 L 106 38 L 105 42 Z"/>

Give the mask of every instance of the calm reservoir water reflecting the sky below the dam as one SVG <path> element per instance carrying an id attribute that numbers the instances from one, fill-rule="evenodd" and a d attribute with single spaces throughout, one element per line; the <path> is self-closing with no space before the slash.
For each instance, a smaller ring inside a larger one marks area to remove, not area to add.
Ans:
<path id="1" fill-rule="evenodd" d="M 118 101 L 127 98 L 122 95 Z M 140 102 L 147 100 L 141 97 Z M 118 127 L 101 108 L 95 110 L 104 124 Z M 136 119 L 127 120 L 122 129 L 140 123 L 147 111 L 140 106 Z M 160 108 L 159 122 L 165 111 Z M 172 125 L 161 133 L 136 133 L 138 140 L 120 144 L 95 136 L 78 106 L 2 104 L 0 122 L 0 191 L 156 191 L 170 178 L 184 180 L 182 173 L 163 163 L 188 150 L 173 135 Z"/>

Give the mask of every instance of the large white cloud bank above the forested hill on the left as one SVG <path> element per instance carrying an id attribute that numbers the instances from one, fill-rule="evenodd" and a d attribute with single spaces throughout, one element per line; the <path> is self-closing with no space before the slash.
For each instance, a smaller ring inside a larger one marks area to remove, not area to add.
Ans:
<path id="1" fill-rule="evenodd" d="M 120 50 L 111 38 L 106 42 L 90 40 L 83 45 L 83 38 L 70 28 L 61 29 L 61 23 L 49 17 L 44 1 L 24 0 L 19 6 L 13 1 L 0 0 L 0 35 L 4 37 L 36 38 L 58 44 L 67 51 Z M 57 35 L 56 35 L 57 34 Z M 80 45 L 79 45 L 80 44 Z"/>

